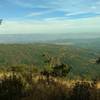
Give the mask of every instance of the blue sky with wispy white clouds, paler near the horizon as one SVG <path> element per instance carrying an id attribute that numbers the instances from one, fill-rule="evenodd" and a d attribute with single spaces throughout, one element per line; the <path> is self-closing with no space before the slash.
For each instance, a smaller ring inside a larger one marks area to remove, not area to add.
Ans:
<path id="1" fill-rule="evenodd" d="M 0 34 L 100 33 L 100 0 L 0 0 Z"/>

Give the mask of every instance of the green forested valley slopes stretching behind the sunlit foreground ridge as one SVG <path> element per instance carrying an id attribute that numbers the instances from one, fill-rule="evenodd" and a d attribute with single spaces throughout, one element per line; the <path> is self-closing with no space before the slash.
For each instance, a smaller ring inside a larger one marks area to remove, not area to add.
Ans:
<path id="1" fill-rule="evenodd" d="M 43 55 L 47 55 L 45 58 Z M 100 55 L 99 45 L 56 45 L 36 44 L 0 44 L 0 68 L 11 66 L 36 66 L 44 69 L 47 58 L 53 64 L 67 64 L 72 67 L 67 78 L 100 79 L 100 65 L 96 63 Z"/>

